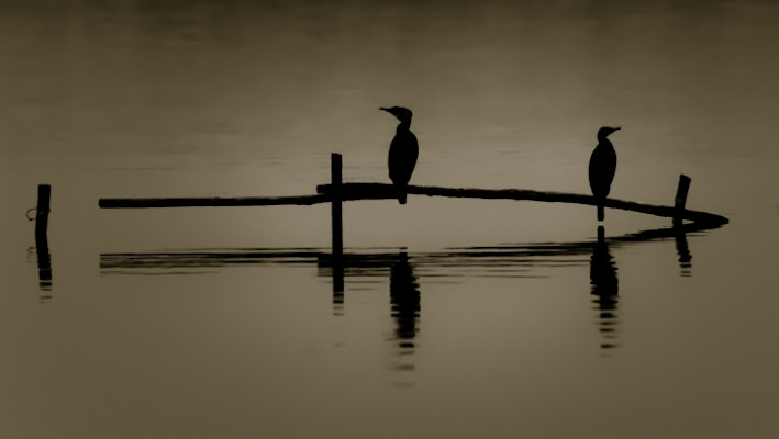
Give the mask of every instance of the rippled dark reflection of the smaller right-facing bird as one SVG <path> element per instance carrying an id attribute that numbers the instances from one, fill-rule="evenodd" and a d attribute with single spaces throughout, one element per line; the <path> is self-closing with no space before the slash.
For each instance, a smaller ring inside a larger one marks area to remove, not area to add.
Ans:
<path id="1" fill-rule="evenodd" d="M 604 238 L 603 226 L 598 227 L 598 241 L 592 248 L 590 259 L 590 284 L 592 303 L 598 312 L 598 325 L 603 341 L 601 349 L 617 347 L 616 326 L 620 285 L 616 277 L 616 264 L 609 252 L 609 244 Z"/>

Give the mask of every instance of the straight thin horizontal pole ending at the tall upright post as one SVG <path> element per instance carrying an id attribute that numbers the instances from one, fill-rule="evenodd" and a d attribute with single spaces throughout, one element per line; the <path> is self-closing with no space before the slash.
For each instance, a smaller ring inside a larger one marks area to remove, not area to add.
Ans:
<path id="1" fill-rule="evenodd" d="M 264 205 L 312 205 L 329 203 L 330 195 L 243 196 L 243 198 L 170 198 L 170 199 L 100 199 L 102 209 L 153 207 L 230 207 Z"/>

